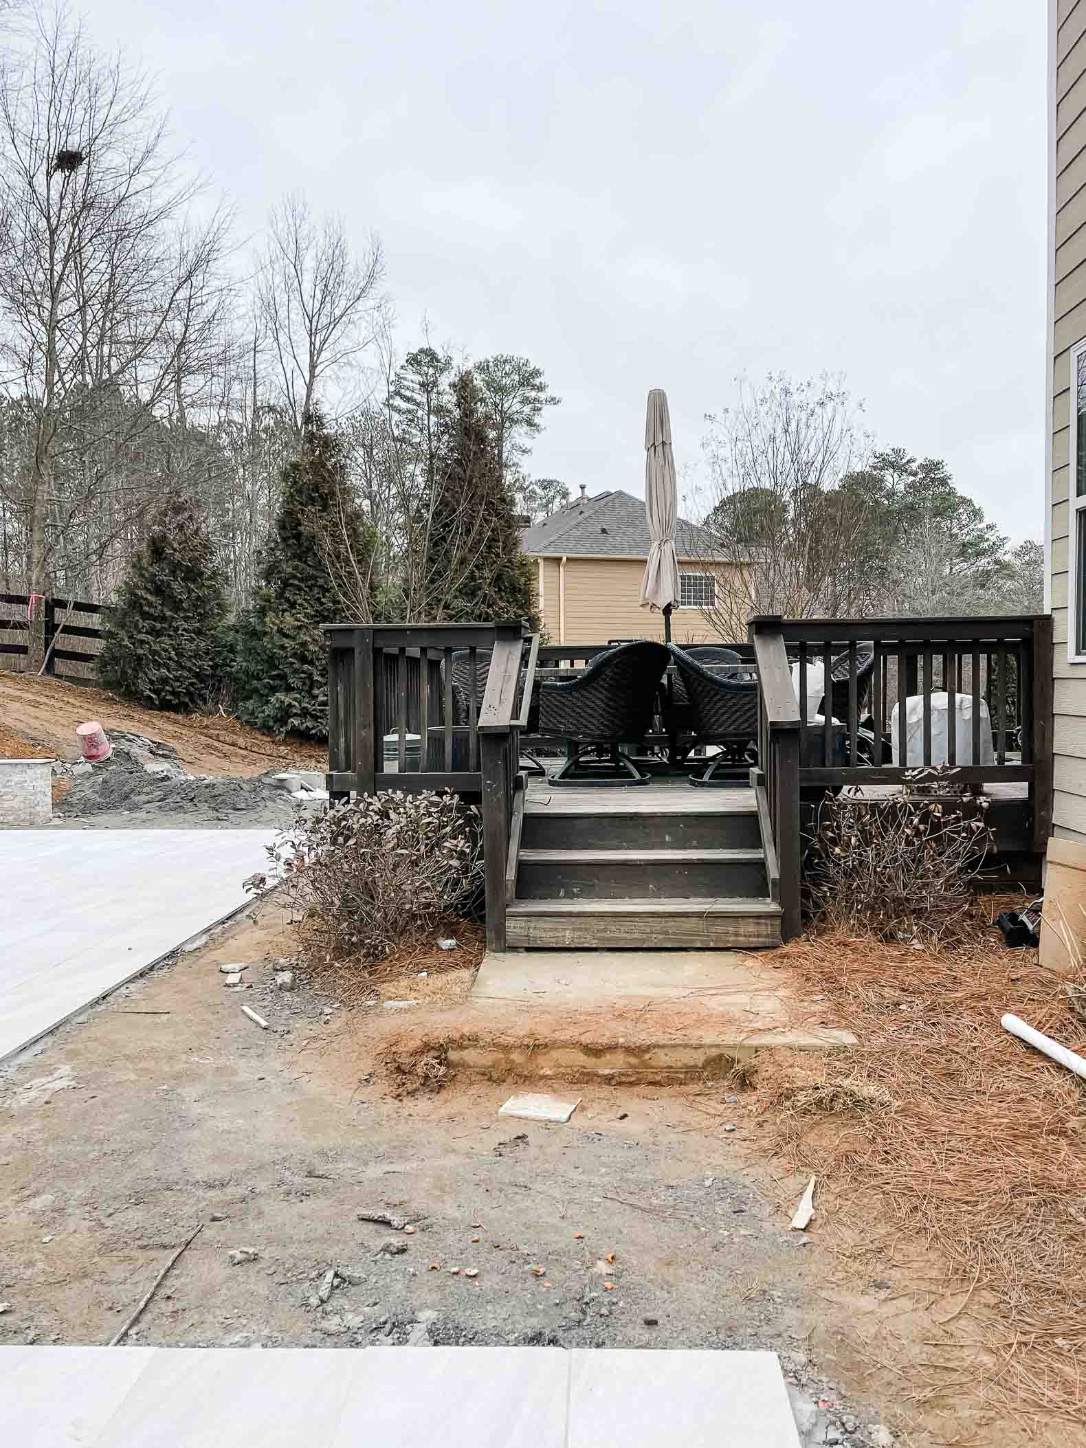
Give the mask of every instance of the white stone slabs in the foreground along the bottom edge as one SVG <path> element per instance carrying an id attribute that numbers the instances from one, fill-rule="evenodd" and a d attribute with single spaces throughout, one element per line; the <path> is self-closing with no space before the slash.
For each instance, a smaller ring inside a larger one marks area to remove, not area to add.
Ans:
<path id="1" fill-rule="evenodd" d="M 19 1448 L 799 1448 L 773 1352 L 0 1348 Z"/>

